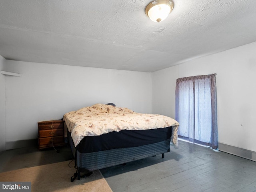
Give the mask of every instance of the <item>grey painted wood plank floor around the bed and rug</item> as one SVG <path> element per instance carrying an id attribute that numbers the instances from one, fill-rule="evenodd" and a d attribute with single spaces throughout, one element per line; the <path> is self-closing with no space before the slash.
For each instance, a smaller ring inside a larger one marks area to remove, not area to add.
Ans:
<path id="1" fill-rule="evenodd" d="M 0 172 L 71 160 L 69 147 L 0 153 Z M 178 141 L 171 152 L 100 170 L 113 192 L 254 192 L 256 162 Z M 86 178 L 82 178 L 86 179 Z"/>

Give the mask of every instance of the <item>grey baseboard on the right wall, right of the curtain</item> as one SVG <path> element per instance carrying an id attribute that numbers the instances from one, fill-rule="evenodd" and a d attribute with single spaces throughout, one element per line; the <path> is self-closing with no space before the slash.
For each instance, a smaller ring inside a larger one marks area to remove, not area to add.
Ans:
<path id="1" fill-rule="evenodd" d="M 256 161 L 256 152 L 255 151 L 250 151 L 247 149 L 231 146 L 231 145 L 224 144 L 221 142 L 219 142 L 218 150 L 232 154 L 232 155 L 236 155 L 236 156 L 239 156 L 242 158 L 246 158 L 246 159 L 249 159 L 252 161 Z"/>

